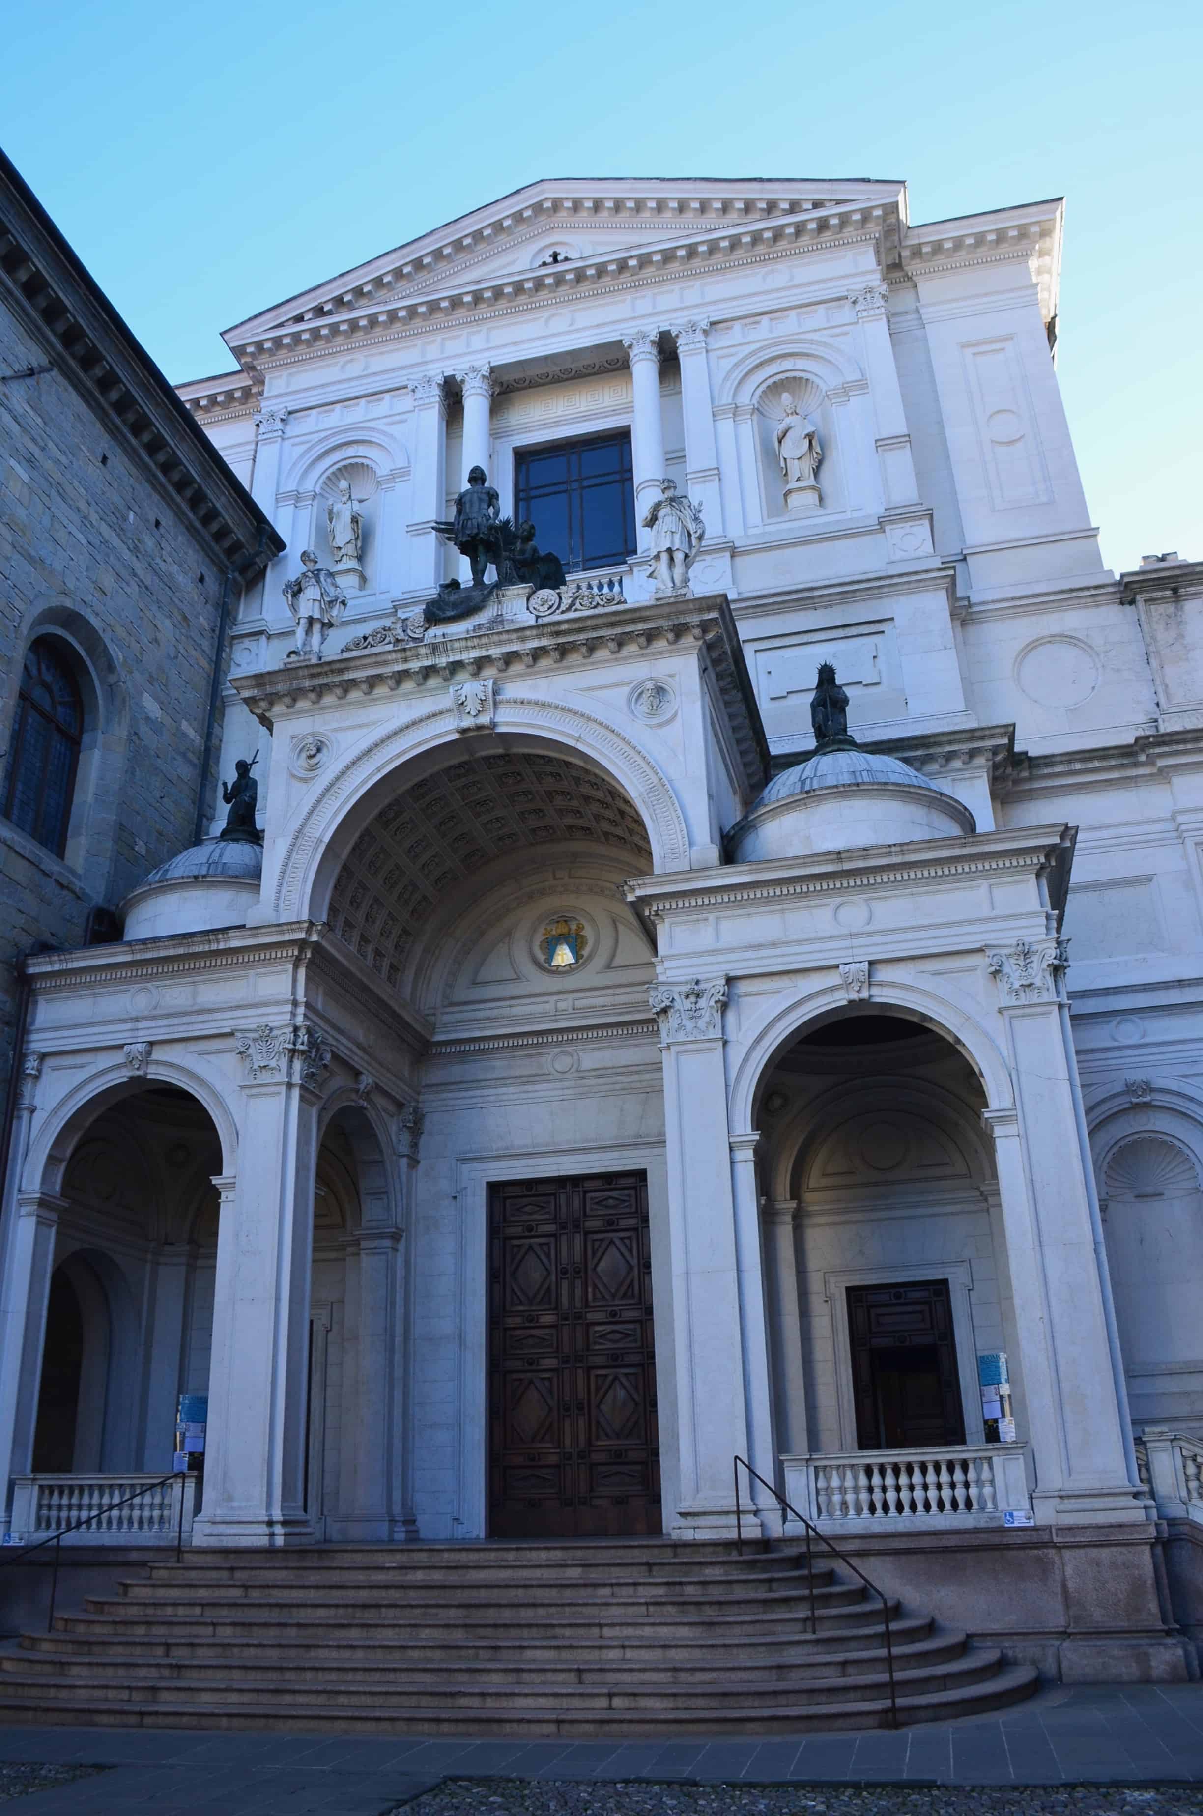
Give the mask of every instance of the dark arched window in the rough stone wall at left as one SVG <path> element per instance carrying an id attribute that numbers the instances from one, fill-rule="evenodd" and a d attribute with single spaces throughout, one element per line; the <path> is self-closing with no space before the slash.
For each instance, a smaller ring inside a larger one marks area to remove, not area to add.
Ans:
<path id="1" fill-rule="evenodd" d="M 51 637 L 29 645 L 0 812 L 62 857 L 84 737 L 84 703 Z"/>

